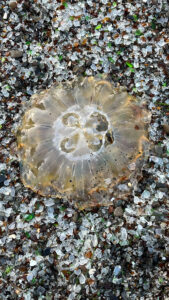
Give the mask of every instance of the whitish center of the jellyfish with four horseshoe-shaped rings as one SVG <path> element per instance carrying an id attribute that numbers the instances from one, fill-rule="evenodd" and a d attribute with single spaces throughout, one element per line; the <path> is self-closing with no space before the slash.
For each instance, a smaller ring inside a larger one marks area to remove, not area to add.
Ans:
<path id="1" fill-rule="evenodd" d="M 70 160 L 79 160 L 101 152 L 112 128 L 96 105 L 73 105 L 54 122 L 54 132 L 55 147 Z"/>

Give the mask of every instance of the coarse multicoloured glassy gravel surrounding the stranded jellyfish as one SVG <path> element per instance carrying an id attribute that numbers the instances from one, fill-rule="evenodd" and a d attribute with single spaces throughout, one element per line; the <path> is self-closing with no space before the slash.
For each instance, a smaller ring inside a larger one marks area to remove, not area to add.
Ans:
<path id="1" fill-rule="evenodd" d="M 1 0 L 0 300 L 169 299 L 168 17 L 167 0 Z M 33 93 L 98 73 L 146 101 L 152 147 L 127 201 L 80 212 L 24 188 L 14 133 Z"/>

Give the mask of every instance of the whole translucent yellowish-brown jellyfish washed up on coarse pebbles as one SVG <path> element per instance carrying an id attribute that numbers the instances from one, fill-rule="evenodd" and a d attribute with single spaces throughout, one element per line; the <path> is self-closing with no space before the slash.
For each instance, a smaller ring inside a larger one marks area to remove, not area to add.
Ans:
<path id="1" fill-rule="evenodd" d="M 148 122 L 139 101 L 104 77 L 35 94 L 17 136 L 22 181 L 79 208 L 109 205 L 141 171 Z"/>

